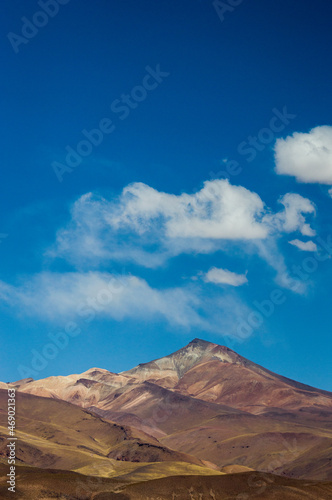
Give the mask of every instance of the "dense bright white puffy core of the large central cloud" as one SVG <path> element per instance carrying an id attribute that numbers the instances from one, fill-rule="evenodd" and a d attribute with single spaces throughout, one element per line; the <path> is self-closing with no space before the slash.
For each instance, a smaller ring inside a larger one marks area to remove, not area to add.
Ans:
<path id="1" fill-rule="evenodd" d="M 162 222 L 169 239 L 243 240 L 266 236 L 260 223 L 263 212 L 256 193 L 226 180 L 207 181 L 197 193 L 181 195 L 135 183 L 123 190 L 108 221 L 115 228 L 130 227 L 141 234 Z"/>

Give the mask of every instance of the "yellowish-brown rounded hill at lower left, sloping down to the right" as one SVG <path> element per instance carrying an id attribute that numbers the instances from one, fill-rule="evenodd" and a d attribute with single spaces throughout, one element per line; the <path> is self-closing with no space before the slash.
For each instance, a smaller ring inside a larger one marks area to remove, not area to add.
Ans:
<path id="1" fill-rule="evenodd" d="M 0 457 L 7 450 L 7 391 L 0 390 Z M 17 393 L 16 458 L 19 463 L 114 475 L 116 461 L 203 465 L 128 426 L 106 421 L 70 403 Z M 108 471 L 108 473 L 105 473 Z"/>

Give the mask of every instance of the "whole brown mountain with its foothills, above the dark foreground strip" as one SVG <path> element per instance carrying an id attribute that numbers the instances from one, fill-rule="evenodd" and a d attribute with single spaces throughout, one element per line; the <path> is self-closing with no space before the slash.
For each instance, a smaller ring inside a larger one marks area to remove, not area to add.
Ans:
<path id="1" fill-rule="evenodd" d="M 332 481 L 332 394 L 204 340 L 119 374 L 91 368 L 1 387 L 17 390 L 21 466 L 132 484 L 250 471 Z M 4 409 L 0 462 L 5 436 Z"/>

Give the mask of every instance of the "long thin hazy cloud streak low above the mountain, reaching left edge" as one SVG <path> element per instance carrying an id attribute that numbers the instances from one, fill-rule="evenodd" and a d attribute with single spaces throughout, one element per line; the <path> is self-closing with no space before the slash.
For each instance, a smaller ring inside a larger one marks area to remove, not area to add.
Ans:
<path id="1" fill-rule="evenodd" d="M 230 311 L 249 313 L 248 307 L 230 294 L 219 293 L 206 301 L 199 287 L 156 289 L 135 276 L 100 272 L 43 272 L 18 286 L 0 282 L 0 299 L 15 314 L 57 323 L 75 319 L 80 324 L 95 317 L 163 319 L 177 327 L 220 334 L 234 322 Z"/>

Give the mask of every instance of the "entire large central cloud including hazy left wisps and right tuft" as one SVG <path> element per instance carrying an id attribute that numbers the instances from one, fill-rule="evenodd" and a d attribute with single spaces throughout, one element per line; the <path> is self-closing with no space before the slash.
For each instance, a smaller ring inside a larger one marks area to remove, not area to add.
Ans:
<path id="1" fill-rule="evenodd" d="M 48 255 L 79 268 L 107 260 L 155 268 L 181 253 L 216 252 L 230 241 L 297 230 L 314 234 L 302 215 L 314 212 L 310 200 L 287 194 L 281 203 L 285 208 L 272 214 L 256 193 L 220 179 L 193 194 L 159 192 L 142 183 L 110 201 L 88 193 L 74 203 L 71 221 L 58 231 Z"/>

